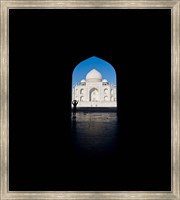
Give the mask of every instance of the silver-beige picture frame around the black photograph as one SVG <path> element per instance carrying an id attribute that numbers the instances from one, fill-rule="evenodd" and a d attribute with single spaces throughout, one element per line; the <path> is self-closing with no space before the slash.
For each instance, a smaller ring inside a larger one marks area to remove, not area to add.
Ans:
<path id="1" fill-rule="evenodd" d="M 9 163 L 9 9 L 41 8 L 41 9 L 171 9 L 171 191 L 118 191 L 118 192 L 52 192 L 9 191 L 8 163 Z M 48 199 L 123 199 L 123 200 L 180 200 L 180 0 L 0 0 L 0 148 L 1 168 L 0 185 L 1 200 L 48 200 Z"/>

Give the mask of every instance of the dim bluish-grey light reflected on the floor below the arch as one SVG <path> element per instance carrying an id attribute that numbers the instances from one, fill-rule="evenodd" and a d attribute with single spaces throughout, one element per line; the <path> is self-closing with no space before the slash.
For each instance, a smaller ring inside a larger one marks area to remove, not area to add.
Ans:
<path id="1" fill-rule="evenodd" d="M 78 155 L 107 157 L 115 150 L 118 132 L 115 112 L 78 112 L 76 118 L 72 117 L 71 129 Z"/>

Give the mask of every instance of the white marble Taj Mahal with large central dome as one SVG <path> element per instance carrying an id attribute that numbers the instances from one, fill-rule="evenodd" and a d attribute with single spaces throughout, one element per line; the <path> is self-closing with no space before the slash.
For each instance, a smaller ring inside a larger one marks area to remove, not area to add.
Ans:
<path id="1" fill-rule="evenodd" d="M 73 87 L 72 100 L 78 101 L 77 107 L 116 107 L 116 86 L 92 69 L 85 79 Z"/>

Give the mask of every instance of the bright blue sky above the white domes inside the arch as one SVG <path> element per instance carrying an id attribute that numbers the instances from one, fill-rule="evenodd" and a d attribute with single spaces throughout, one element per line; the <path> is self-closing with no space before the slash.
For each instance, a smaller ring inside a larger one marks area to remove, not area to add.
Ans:
<path id="1" fill-rule="evenodd" d="M 103 79 L 116 84 L 116 73 L 112 65 L 96 56 L 90 57 L 76 66 L 73 71 L 72 84 L 75 85 L 76 83 L 80 83 L 82 79 L 86 79 L 86 74 L 92 69 L 99 71 Z"/>

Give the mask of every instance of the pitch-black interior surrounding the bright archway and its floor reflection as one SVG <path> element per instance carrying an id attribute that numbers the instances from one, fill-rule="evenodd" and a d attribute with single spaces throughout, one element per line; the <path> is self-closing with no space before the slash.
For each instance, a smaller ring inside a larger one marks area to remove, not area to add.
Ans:
<path id="1" fill-rule="evenodd" d="M 170 191 L 171 9 L 10 9 L 9 21 L 9 190 Z M 87 163 L 72 151 L 71 88 L 92 55 L 116 71 L 120 144 Z"/>

